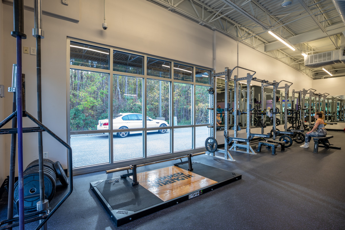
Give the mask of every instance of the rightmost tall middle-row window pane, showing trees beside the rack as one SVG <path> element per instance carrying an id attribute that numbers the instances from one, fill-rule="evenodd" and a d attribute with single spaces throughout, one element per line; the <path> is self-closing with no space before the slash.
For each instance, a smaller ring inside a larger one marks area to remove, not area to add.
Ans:
<path id="1" fill-rule="evenodd" d="M 210 123 L 210 94 L 207 86 L 195 86 L 195 124 Z"/>

